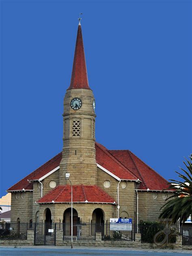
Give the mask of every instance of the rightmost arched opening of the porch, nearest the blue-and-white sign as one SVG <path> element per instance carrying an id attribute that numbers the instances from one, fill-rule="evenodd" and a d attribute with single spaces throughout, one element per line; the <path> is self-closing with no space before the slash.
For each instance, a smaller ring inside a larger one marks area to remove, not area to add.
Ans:
<path id="1" fill-rule="evenodd" d="M 96 208 L 92 213 L 92 224 L 95 226 L 95 232 L 104 234 L 104 212 L 100 208 Z"/>

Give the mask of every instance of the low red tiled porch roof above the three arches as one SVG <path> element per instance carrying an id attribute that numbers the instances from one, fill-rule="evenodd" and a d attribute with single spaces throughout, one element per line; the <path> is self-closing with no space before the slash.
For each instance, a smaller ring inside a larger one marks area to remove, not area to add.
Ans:
<path id="1" fill-rule="evenodd" d="M 37 203 L 69 203 L 71 202 L 71 186 L 59 185 Z M 113 197 L 96 185 L 73 185 L 73 202 L 94 202 L 94 203 L 114 203 Z"/>

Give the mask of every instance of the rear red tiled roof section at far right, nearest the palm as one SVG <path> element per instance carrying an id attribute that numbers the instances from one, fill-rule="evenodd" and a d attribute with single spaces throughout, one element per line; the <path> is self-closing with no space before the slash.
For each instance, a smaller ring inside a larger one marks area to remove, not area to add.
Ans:
<path id="1" fill-rule="evenodd" d="M 130 150 L 109 150 L 109 152 L 142 180 L 139 190 L 170 190 L 168 181 Z"/>

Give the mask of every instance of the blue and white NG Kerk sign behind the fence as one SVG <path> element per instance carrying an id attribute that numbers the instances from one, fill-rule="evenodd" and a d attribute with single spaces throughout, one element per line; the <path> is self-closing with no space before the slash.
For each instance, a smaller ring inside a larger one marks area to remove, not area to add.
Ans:
<path id="1" fill-rule="evenodd" d="M 132 219 L 110 219 L 110 230 L 132 230 Z"/>

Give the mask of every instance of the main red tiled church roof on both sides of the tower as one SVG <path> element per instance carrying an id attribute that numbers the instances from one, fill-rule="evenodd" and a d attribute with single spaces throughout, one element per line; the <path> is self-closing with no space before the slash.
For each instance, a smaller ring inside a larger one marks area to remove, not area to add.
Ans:
<path id="1" fill-rule="evenodd" d="M 141 181 L 139 189 L 142 190 L 168 190 L 169 185 L 167 180 L 156 173 L 151 167 L 145 164 L 141 159 L 137 158 L 129 150 L 108 150 L 101 144 L 95 144 L 96 147 L 96 162 L 124 180 L 139 180 Z M 11 186 L 7 191 L 16 190 L 33 190 L 32 180 L 38 180 L 56 167 L 60 165 L 62 153 L 59 153 L 54 158 L 37 168 L 25 178 L 21 179 L 15 185 Z M 169 189 L 170 190 L 170 189 Z"/>

